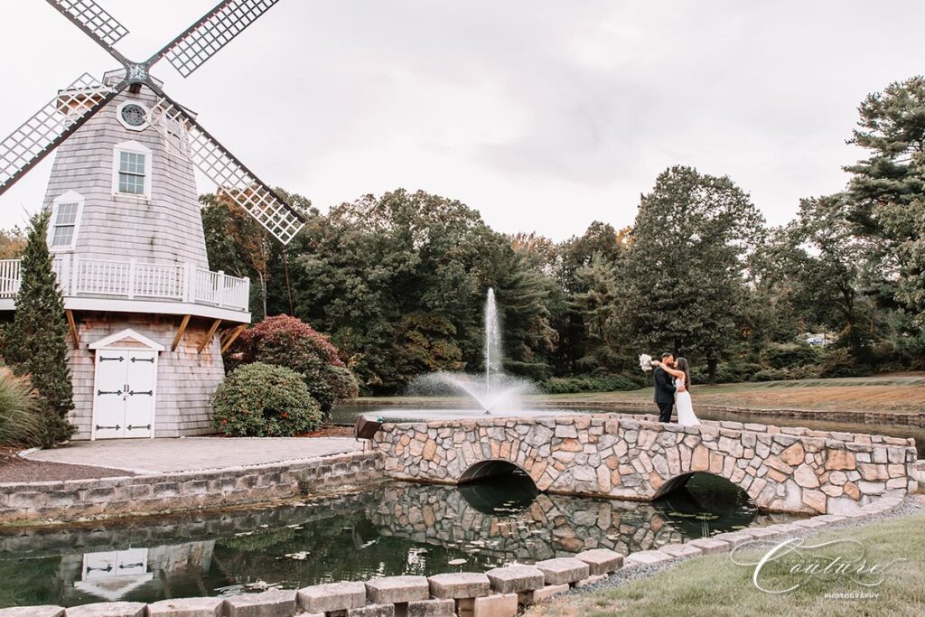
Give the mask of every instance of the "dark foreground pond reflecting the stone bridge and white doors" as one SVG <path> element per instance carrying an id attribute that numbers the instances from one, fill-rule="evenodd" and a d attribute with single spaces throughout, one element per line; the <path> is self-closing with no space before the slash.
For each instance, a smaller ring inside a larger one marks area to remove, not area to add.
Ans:
<path id="1" fill-rule="evenodd" d="M 0 530 L 0 607 L 481 572 L 586 548 L 626 554 L 794 518 L 760 514 L 740 489 L 702 474 L 652 503 L 536 494 L 518 475 L 463 487 L 388 482 L 273 507 Z"/>

